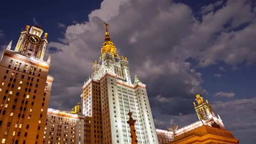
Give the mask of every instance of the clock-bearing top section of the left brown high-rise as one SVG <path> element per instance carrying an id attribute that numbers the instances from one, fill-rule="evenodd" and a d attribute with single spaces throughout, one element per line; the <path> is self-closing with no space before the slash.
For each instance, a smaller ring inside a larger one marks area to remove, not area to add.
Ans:
<path id="1" fill-rule="evenodd" d="M 43 60 L 45 47 L 48 44 L 48 34 L 45 33 L 44 37 L 41 38 L 43 29 L 39 25 L 32 26 L 30 30 L 29 28 L 27 25 L 26 29 L 21 32 L 14 51 Z"/>

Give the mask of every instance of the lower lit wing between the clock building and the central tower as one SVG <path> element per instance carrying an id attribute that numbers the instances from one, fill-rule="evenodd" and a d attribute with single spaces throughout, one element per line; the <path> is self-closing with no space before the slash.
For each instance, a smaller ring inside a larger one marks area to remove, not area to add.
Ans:
<path id="1" fill-rule="evenodd" d="M 92 144 L 91 117 L 48 108 L 44 144 Z"/>

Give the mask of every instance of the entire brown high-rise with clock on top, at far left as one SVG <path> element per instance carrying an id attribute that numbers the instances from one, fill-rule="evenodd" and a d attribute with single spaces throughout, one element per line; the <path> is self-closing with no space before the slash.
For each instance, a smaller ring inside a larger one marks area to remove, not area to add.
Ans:
<path id="1" fill-rule="evenodd" d="M 47 33 L 40 26 L 21 32 L 0 61 L 0 141 L 2 144 L 42 144 L 53 77 L 43 61 Z"/>

